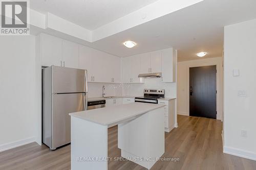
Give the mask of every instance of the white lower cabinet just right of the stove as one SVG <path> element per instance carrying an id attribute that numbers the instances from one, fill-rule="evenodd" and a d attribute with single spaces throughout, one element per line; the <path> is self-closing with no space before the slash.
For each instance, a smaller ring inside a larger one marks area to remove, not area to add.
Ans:
<path id="1" fill-rule="evenodd" d="M 164 106 L 164 129 L 165 132 L 170 132 L 175 127 L 176 116 L 175 116 L 175 100 L 158 100 L 158 104 Z"/>

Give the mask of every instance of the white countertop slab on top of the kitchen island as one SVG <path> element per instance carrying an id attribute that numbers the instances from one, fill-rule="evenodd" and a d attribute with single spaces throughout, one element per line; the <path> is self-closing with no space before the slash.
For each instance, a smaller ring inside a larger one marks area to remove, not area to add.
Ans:
<path id="1" fill-rule="evenodd" d="M 136 102 L 113 107 L 75 112 L 70 113 L 69 115 L 101 125 L 112 125 L 164 106 L 165 105 Z"/>

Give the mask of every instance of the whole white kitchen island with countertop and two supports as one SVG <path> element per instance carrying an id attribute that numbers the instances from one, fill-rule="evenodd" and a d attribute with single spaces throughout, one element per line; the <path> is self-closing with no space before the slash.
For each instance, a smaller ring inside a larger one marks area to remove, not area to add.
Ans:
<path id="1" fill-rule="evenodd" d="M 150 169 L 164 153 L 164 105 L 130 103 L 70 113 L 71 169 L 108 169 L 108 127 L 121 156 Z"/>

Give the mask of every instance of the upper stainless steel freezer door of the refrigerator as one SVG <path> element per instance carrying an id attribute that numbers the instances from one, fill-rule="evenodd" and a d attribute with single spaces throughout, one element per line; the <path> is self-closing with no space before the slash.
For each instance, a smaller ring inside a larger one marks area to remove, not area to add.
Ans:
<path id="1" fill-rule="evenodd" d="M 52 66 L 52 93 L 87 92 L 87 70 Z"/>

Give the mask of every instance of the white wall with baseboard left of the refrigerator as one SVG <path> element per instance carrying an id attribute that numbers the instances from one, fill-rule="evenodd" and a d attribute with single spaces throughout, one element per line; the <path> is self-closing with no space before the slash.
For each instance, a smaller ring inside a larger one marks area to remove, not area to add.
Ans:
<path id="1" fill-rule="evenodd" d="M 0 151 L 35 141 L 35 37 L 0 37 Z"/>

